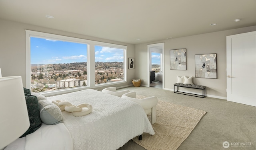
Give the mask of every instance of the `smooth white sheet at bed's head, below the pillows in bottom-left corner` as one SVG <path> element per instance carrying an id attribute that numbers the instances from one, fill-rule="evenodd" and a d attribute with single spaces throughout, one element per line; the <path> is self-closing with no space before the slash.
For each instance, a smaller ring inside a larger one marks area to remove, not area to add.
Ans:
<path id="1" fill-rule="evenodd" d="M 73 140 L 63 123 L 42 126 L 35 132 L 18 138 L 4 150 L 72 150 Z"/>

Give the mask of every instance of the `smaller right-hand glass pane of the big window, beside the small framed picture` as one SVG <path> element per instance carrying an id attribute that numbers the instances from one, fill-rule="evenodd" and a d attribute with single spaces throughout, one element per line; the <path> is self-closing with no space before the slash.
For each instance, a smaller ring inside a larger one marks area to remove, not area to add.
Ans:
<path id="1" fill-rule="evenodd" d="M 95 46 L 95 84 L 124 80 L 124 49 Z"/>

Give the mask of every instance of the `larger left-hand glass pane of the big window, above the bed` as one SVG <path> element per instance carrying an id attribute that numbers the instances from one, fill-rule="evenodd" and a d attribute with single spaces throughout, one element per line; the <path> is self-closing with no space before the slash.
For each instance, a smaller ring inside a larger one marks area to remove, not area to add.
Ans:
<path id="1" fill-rule="evenodd" d="M 87 44 L 30 37 L 31 90 L 87 86 Z"/>

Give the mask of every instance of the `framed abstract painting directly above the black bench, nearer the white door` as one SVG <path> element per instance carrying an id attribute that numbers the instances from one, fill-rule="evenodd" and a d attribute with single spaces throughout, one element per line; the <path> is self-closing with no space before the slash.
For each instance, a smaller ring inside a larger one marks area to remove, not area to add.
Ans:
<path id="1" fill-rule="evenodd" d="M 195 77 L 217 79 L 217 54 L 195 55 Z"/>

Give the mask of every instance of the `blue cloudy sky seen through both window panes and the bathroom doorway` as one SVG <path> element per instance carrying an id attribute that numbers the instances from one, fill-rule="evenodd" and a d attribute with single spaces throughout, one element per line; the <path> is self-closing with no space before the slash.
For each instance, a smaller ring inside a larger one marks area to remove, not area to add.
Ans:
<path id="1" fill-rule="evenodd" d="M 152 53 L 152 63 L 158 62 L 157 53 Z M 87 45 L 65 41 L 56 41 L 30 38 L 31 64 L 58 64 L 72 62 L 87 62 Z M 123 62 L 124 51 L 109 47 L 95 47 L 95 61 L 99 62 Z"/>

